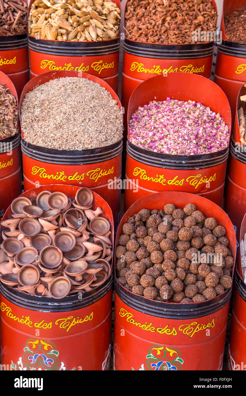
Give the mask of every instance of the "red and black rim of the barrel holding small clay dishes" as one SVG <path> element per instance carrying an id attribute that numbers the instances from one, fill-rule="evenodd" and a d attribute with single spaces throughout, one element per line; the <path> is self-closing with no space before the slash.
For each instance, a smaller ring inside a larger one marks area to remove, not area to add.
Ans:
<path id="1" fill-rule="evenodd" d="M 66 185 L 66 184 L 43 185 L 43 186 L 39 186 L 36 188 L 31 188 L 30 190 L 23 192 L 19 196 L 25 196 L 29 199 L 36 198 L 36 196 L 39 194 L 39 192 L 48 190 L 51 192 L 55 192 L 55 191 L 63 192 L 64 194 L 66 194 L 68 196 L 68 198 L 74 199 L 76 192 L 80 188 L 81 187 L 70 186 L 70 185 Z M 107 218 L 109 220 L 109 222 L 111 223 L 112 249 L 114 249 L 115 231 L 114 231 L 114 220 L 113 220 L 112 210 L 111 210 L 109 204 L 107 204 L 107 202 L 99 194 L 97 194 L 94 191 L 92 191 L 92 193 L 94 195 L 94 202 L 93 202 L 91 209 L 95 210 L 99 206 L 103 210 L 103 214 L 101 215 L 101 217 Z M 12 213 L 11 207 L 9 206 L 8 209 L 4 213 L 4 217 L 2 220 L 10 219 L 11 213 Z M 3 228 L 5 229 L 5 227 L 0 225 L 1 241 L 2 241 Z M 95 297 L 98 297 L 100 295 L 101 295 L 101 297 L 103 297 L 103 295 L 105 294 L 105 288 L 108 290 L 111 288 L 111 284 L 113 281 L 112 278 L 113 278 L 113 259 L 112 259 L 112 263 L 111 263 L 111 274 L 109 275 L 107 280 L 101 286 L 98 286 L 95 289 L 92 289 L 90 291 L 87 291 L 86 293 L 83 293 L 83 296 L 85 296 L 85 297 L 83 297 L 82 299 L 78 299 L 77 294 L 67 296 L 64 299 L 61 299 L 60 301 L 57 299 L 53 299 L 52 297 L 29 295 L 29 294 L 23 293 L 21 291 L 18 291 L 16 289 L 13 289 L 10 286 L 2 284 L 2 282 L 0 282 L 0 289 L 4 289 L 5 297 L 7 297 L 8 299 L 11 298 L 11 301 L 13 303 L 15 303 L 16 305 L 20 305 L 21 307 L 26 306 L 27 308 L 34 309 L 34 310 L 39 310 L 40 307 L 42 307 L 43 309 L 46 308 L 46 309 L 49 309 L 51 312 L 53 312 L 53 311 L 57 310 L 58 305 L 63 306 L 64 307 L 63 310 L 69 310 L 69 308 L 71 309 L 71 307 L 72 307 L 72 309 L 79 309 L 79 308 L 82 308 L 83 306 L 85 306 L 85 304 L 87 306 L 90 303 L 94 302 Z M 13 299 L 13 295 L 15 296 L 15 299 Z M 75 302 L 77 302 L 76 307 L 74 306 Z M 37 307 L 37 303 L 39 304 L 38 307 Z M 54 309 L 52 309 L 53 303 L 54 303 Z M 33 304 L 33 307 L 31 307 L 32 304 Z"/>

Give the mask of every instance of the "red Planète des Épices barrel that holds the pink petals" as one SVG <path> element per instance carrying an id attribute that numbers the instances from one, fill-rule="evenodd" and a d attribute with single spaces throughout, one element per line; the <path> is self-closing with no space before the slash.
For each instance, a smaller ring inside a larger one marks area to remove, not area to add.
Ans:
<path id="1" fill-rule="evenodd" d="M 205 77 L 182 73 L 156 76 L 135 88 L 128 106 L 128 124 L 139 106 L 167 97 L 201 102 L 220 113 L 231 130 L 230 106 L 222 89 Z M 125 209 L 159 191 L 191 192 L 222 205 L 229 148 L 208 155 L 159 154 L 130 143 L 128 133 L 126 150 L 126 180 L 133 186 L 125 191 Z"/>

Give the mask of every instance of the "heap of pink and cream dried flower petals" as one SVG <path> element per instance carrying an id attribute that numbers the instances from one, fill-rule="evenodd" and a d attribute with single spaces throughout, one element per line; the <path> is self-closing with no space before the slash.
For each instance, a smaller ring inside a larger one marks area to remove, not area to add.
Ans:
<path id="1" fill-rule="evenodd" d="M 139 107 L 129 122 L 130 142 L 146 150 L 173 154 L 210 154 L 229 145 L 229 128 L 220 114 L 193 101 L 169 97 Z"/>

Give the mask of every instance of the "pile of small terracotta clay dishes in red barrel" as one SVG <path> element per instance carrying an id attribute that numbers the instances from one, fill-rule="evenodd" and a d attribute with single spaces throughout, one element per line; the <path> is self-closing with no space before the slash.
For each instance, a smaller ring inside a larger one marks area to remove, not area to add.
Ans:
<path id="1" fill-rule="evenodd" d="M 1 282 L 56 299 L 103 284 L 111 274 L 111 224 L 101 208 L 91 209 L 93 201 L 85 187 L 73 202 L 49 191 L 16 198 L 12 218 L 1 223 Z"/>

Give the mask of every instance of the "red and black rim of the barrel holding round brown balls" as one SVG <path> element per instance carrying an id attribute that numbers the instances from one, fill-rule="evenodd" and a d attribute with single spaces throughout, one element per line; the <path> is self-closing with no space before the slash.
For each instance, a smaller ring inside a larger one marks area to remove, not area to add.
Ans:
<path id="1" fill-rule="evenodd" d="M 116 232 L 116 237 L 115 237 L 115 246 L 118 246 L 118 239 L 120 235 L 122 234 L 122 226 L 124 223 L 127 222 L 129 217 L 133 216 L 135 213 L 138 213 L 141 209 L 161 209 L 164 208 L 165 204 L 167 203 L 172 203 L 175 204 L 177 208 L 184 208 L 186 204 L 194 204 L 197 207 L 197 210 L 200 210 L 203 215 L 206 217 L 214 217 L 217 221 L 218 219 L 223 218 L 223 221 L 218 221 L 220 225 L 223 225 L 226 228 L 226 235 L 227 238 L 229 239 L 229 249 L 231 249 L 232 255 L 234 256 L 234 265 L 233 265 L 233 272 L 231 276 L 233 277 L 234 270 L 235 270 L 235 259 L 236 259 L 236 253 L 237 253 L 237 240 L 236 240 L 236 234 L 235 234 L 235 229 L 233 227 L 233 224 L 231 223 L 231 220 L 227 216 L 227 214 L 216 204 L 208 200 L 207 198 L 204 198 L 202 196 L 198 196 L 195 194 L 190 194 L 188 192 L 175 192 L 175 191 L 165 191 L 165 192 L 156 192 L 154 194 L 147 195 L 143 198 L 140 198 L 138 201 L 136 201 L 133 205 L 130 206 L 130 208 L 126 211 L 124 216 L 122 217 L 120 224 L 118 225 L 118 229 Z M 160 206 L 160 208 L 159 208 Z M 116 256 L 114 254 L 114 259 L 116 262 Z M 115 269 L 115 274 L 116 274 L 116 269 Z M 228 297 L 228 301 L 231 295 L 231 290 L 227 289 L 222 293 L 221 295 L 218 295 L 214 297 L 213 299 L 207 300 L 205 302 L 201 303 L 189 303 L 189 304 L 182 304 L 182 303 L 163 303 L 155 300 L 148 299 L 143 296 L 135 295 L 131 291 L 127 290 L 124 286 L 122 286 L 119 282 L 118 279 L 116 278 L 115 275 L 115 289 L 116 293 L 117 290 L 120 292 L 123 292 L 124 295 L 129 296 L 131 299 L 131 302 L 134 304 L 135 303 L 140 303 L 142 306 L 147 307 L 147 304 L 153 305 L 153 308 L 159 308 L 163 309 L 165 308 L 164 311 L 164 316 L 165 312 L 169 309 L 173 310 L 173 313 L 175 313 L 177 310 L 182 309 L 184 307 L 184 311 L 191 311 L 192 307 L 192 312 L 193 315 L 195 316 L 194 309 L 198 308 L 200 312 L 200 308 L 204 307 L 205 310 L 208 309 L 211 305 L 214 303 L 218 303 L 220 306 L 220 301 L 224 297 Z M 117 293 L 118 294 L 118 293 Z M 192 305 L 191 305 L 192 304 Z M 174 307 L 177 307 L 176 309 Z M 139 308 L 136 308 L 139 309 Z M 192 313 L 191 312 L 191 313 Z M 163 314 L 163 311 L 162 311 Z M 156 315 L 157 316 L 157 315 Z M 202 316 L 202 315 L 200 315 Z"/>

